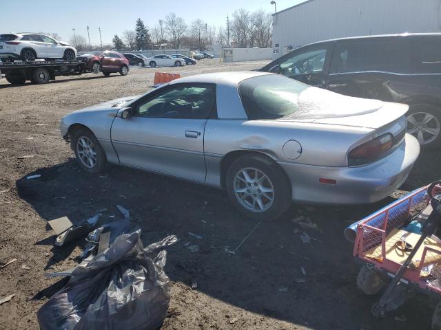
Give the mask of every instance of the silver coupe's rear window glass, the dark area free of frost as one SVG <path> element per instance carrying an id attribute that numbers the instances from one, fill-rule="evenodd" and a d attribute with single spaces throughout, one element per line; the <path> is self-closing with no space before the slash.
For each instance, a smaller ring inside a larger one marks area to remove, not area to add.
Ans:
<path id="1" fill-rule="evenodd" d="M 243 80 L 239 95 L 249 119 L 275 119 L 298 111 L 298 95 L 309 85 L 268 74 Z"/>

